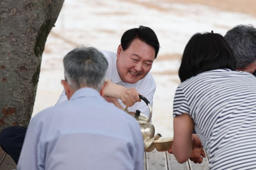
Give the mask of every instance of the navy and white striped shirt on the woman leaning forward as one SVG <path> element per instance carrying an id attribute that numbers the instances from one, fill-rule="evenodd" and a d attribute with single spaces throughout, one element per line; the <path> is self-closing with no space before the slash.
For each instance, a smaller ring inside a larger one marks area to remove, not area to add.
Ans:
<path id="1" fill-rule="evenodd" d="M 256 169 L 256 77 L 216 69 L 182 82 L 174 117 L 188 113 L 210 159 L 210 169 Z"/>

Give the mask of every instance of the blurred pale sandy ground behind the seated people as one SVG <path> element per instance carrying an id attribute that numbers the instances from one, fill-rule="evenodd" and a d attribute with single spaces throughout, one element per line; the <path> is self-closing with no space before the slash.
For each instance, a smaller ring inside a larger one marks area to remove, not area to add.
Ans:
<path id="1" fill-rule="evenodd" d="M 171 137 L 172 102 L 186 43 L 197 32 L 224 36 L 238 24 L 256 26 L 255 6 L 254 0 L 65 0 L 46 41 L 32 116 L 58 100 L 68 51 L 86 45 L 116 52 L 122 34 L 143 25 L 154 30 L 161 46 L 150 71 L 157 85 L 152 123 L 156 133 Z"/>

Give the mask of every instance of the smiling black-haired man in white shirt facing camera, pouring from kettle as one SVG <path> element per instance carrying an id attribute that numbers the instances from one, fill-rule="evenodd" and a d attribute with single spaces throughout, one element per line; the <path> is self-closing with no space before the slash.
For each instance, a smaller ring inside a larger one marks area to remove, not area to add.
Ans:
<path id="1" fill-rule="evenodd" d="M 152 106 L 156 83 L 149 71 L 154 59 L 157 57 L 159 47 L 158 38 L 151 28 L 139 26 L 139 28 L 127 30 L 122 35 L 121 44 L 118 46 L 117 53 L 106 50 L 101 51 L 109 64 L 106 78 L 112 83 L 116 83 L 128 89 L 135 88 L 138 93 L 148 99 Z M 140 99 L 135 89 L 134 91 L 130 90 L 126 92 L 126 94 L 131 96 L 128 111 L 129 113 L 134 113 L 136 110 L 140 110 L 142 114 L 148 117 L 148 106 L 144 102 L 137 102 L 140 101 Z M 110 91 L 113 92 L 115 90 Z M 132 93 L 136 93 L 134 97 Z M 108 96 L 111 95 L 110 93 L 108 94 Z M 114 95 L 118 96 L 118 94 Z M 67 97 L 63 91 L 56 104 L 66 99 Z M 126 100 L 122 96 L 119 97 L 119 100 L 113 97 L 105 97 L 105 99 L 114 103 L 120 109 L 126 107 L 126 104 L 122 102 Z M 133 106 L 130 107 L 131 105 Z"/>

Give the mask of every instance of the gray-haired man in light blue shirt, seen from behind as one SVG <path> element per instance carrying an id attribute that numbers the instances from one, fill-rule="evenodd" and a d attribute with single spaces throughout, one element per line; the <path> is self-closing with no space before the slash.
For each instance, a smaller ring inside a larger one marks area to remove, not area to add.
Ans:
<path id="1" fill-rule="evenodd" d="M 108 84 L 104 55 L 81 47 L 63 63 L 68 101 L 31 119 L 17 169 L 143 170 L 140 126 L 102 97 Z"/>

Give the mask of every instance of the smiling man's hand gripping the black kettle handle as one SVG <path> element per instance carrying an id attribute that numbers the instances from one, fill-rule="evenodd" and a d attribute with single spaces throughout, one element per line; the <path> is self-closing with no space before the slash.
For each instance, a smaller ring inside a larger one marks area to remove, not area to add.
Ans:
<path id="1" fill-rule="evenodd" d="M 121 100 L 127 107 L 131 107 L 137 101 L 140 102 L 139 93 L 135 88 L 124 89 L 122 91 Z"/>

